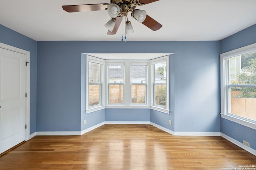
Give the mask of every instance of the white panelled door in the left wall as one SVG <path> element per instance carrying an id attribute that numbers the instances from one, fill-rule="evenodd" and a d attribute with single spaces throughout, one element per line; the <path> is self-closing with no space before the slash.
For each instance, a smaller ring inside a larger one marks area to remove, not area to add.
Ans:
<path id="1" fill-rule="evenodd" d="M 0 48 L 0 153 L 25 141 L 26 55 Z"/>

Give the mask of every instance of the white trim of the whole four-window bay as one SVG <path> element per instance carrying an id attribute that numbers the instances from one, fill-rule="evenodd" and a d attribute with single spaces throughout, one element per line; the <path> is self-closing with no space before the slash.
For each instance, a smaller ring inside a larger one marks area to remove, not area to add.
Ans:
<path id="1" fill-rule="evenodd" d="M 164 57 L 158 57 L 156 59 L 151 59 L 151 60 L 105 60 L 105 59 L 100 59 L 98 57 L 93 57 L 90 55 L 86 55 L 86 114 L 87 113 L 91 113 L 94 111 L 98 111 L 101 109 L 108 109 L 108 108 L 122 108 L 122 109 L 154 109 L 163 113 L 167 113 L 169 114 L 170 110 L 169 110 L 169 55 L 166 55 Z M 102 64 L 102 105 L 101 106 L 96 106 L 93 108 L 89 108 L 88 106 L 88 86 L 89 86 L 89 82 L 88 82 L 88 65 L 89 65 L 89 61 L 94 62 L 94 63 L 99 63 Z M 167 72 L 166 72 L 166 77 L 167 77 L 167 90 L 166 90 L 166 109 L 165 108 L 161 108 L 161 107 L 157 107 L 157 106 L 153 106 L 152 103 L 152 63 L 159 63 L 160 61 L 166 61 L 167 63 Z M 129 96 L 129 100 L 128 101 L 124 101 L 124 105 L 115 105 L 115 104 L 110 104 L 108 105 L 108 84 L 106 83 L 107 80 L 107 72 L 108 72 L 108 64 L 120 64 L 120 63 L 124 63 L 126 65 L 125 67 L 125 76 L 128 76 L 128 80 L 129 83 L 125 83 L 125 91 L 124 91 L 124 97 L 125 96 Z M 130 99 L 130 65 L 147 65 L 147 98 L 146 98 L 146 104 L 143 105 L 132 105 L 131 104 L 131 99 Z M 128 67 L 128 68 L 127 68 Z M 127 70 L 126 70 L 127 69 Z M 127 86 L 127 87 L 126 87 Z M 129 89 L 129 90 L 127 90 Z"/>

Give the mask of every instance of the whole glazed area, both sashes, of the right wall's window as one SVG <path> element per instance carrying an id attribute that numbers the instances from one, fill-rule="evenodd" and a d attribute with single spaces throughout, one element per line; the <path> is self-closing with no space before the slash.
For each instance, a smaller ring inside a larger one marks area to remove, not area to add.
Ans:
<path id="1" fill-rule="evenodd" d="M 229 57 L 224 62 L 227 113 L 256 122 L 256 51 Z"/>

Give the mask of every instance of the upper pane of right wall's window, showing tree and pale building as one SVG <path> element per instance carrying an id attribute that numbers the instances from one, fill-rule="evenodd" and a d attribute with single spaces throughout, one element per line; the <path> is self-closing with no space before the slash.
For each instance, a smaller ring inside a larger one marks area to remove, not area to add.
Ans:
<path id="1" fill-rule="evenodd" d="M 229 59 L 230 84 L 256 84 L 256 52 Z"/>

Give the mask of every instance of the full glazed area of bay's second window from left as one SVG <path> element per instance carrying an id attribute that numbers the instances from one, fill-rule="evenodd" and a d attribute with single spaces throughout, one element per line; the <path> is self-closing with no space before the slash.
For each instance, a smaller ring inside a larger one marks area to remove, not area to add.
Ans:
<path id="1" fill-rule="evenodd" d="M 108 104 L 124 104 L 124 64 L 108 64 Z"/>

